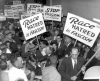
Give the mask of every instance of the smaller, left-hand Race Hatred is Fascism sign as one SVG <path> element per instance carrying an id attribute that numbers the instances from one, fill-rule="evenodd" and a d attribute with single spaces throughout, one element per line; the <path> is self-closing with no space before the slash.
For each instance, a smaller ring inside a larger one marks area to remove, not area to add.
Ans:
<path id="1" fill-rule="evenodd" d="M 37 14 L 20 20 L 20 24 L 26 40 L 46 32 L 42 14 Z"/>

